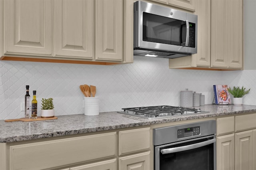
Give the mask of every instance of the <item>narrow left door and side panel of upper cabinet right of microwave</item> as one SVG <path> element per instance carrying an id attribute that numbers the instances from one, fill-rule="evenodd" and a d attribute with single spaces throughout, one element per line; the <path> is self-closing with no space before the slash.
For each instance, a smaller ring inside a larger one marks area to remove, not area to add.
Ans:
<path id="1" fill-rule="evenodd" d="M 210 67 L 210 0 L 196 0 L 197 53 L 169 59 L 169 68 Z"/>

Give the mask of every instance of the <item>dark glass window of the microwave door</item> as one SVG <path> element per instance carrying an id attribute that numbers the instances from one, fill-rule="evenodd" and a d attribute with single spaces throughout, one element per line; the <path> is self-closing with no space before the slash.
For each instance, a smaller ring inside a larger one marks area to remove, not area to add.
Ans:
<path id="1" fill-rule="evenodd" d="M 186 21 L 143 12 L 143 41 L 184 46 Z"/>

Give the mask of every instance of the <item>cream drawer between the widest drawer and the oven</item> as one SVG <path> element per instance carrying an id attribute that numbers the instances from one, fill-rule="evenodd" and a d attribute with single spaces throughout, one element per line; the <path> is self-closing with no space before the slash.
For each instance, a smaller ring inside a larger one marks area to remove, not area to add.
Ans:
<path id="1" fill-rule="evenodd" d="M 150 148 L 150 128 L 119 132 L 119 155 Z"/>

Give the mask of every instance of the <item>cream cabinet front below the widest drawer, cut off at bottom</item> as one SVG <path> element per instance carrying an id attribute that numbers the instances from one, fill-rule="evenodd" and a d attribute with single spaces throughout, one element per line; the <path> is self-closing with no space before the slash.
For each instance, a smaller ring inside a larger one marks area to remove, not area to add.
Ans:
<path id="1" fill-rule="evenodd" d="M 116 170 L 116 159 L 76 166 L 70 170 Z"/>

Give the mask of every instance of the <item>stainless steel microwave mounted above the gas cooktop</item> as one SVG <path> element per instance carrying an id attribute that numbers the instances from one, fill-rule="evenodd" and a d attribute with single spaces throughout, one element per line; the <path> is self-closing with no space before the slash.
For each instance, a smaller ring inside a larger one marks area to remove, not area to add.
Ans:
<path id="1" fill-rule="evenodd" d="M 197 53 L 197 15 L 134 2 L 134 55 L 176 58 Z"/>

